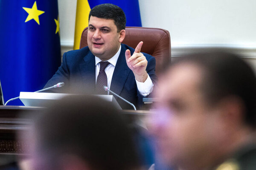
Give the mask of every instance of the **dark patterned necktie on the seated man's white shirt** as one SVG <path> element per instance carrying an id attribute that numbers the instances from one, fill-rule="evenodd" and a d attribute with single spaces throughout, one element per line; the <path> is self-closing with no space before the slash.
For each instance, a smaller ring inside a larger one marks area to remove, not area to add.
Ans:
<path id="1" fill-rule="evenodd" d="M 99 68 L 99 75 L 97 77 L 96 81 L 96 94 L 108 94 L 108 91 L 105 91 L 103 86 L 108 86 L 108 77 L 105 73 L 105 68 L 110 64 L 110 62 L 99 62 L 100 68 Z"/>

